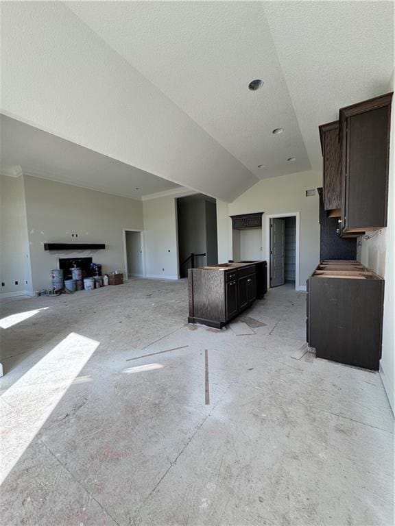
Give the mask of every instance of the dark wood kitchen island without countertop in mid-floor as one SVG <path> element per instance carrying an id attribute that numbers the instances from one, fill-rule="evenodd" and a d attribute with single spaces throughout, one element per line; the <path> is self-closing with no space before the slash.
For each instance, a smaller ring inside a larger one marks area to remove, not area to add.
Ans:
<path id="1" fill-rule="evenodd" d="M 265 261 L 229 262 L 188 271 L 189 323 L 222 329 L 267 290 Z"/>

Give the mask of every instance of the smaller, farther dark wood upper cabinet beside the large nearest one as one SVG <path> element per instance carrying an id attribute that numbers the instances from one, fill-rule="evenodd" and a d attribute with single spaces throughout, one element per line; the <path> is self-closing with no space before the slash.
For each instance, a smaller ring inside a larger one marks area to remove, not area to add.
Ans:
<path id="1" fill-rule="evenodd" d="M 322 124 L 319 129 L 323 158 L 324 210 L 339 210 L 342 200 L 342 153 L 339 144 L 339 121 Z M 338 215 L 340 215 L 340 210 Z"/>

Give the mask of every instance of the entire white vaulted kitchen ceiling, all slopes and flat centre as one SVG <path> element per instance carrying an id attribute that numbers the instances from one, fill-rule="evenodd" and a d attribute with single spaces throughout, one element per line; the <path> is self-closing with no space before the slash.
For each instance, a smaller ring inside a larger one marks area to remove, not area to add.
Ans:
<path id="1" fill-rule="evenodd" d="M 259 179 L 320 168 L 318 125 L 385 92 L 393 8 L 385 1 L 19 2 L 4 10 L 13 64 L 5 60 L 3 111 L 231 201 Z M 21 101 L 24 67 L 39 99 L 34 109 L 34 101 Z M 253 79 L 263 80 L 261 89 L 248 90 Z M 96 115 L 90 103 L 99 105 Z M 273 134 L 279 127 L 283 133 Z"/>

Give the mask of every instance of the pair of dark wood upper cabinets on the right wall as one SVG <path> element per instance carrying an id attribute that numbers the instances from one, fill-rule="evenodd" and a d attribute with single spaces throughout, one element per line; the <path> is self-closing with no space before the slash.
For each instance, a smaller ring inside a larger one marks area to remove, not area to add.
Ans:
<path id="1" fill-rule="evenodd" d="M 387 93 L 353 104 L 319 127 L 324 209 L 343 238 L 387 226 L 391 103 Z"/>

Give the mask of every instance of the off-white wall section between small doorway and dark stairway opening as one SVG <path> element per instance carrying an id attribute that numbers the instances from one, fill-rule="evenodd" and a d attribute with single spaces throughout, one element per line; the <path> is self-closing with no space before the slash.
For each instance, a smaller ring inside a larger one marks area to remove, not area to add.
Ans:
<path id="1" fill-rule="evenodd" d="M 178 279 L 176 207 L 175 197 L 143 201 L 147 277 Z"/>

